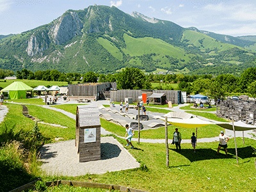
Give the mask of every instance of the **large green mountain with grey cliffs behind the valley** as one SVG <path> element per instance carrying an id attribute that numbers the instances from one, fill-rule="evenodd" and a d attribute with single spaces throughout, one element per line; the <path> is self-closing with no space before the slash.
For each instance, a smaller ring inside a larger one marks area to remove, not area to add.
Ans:
<path id="1" fill-rule="evenodd" d="M 256 55 L 244 49 L 250 45 L 250 40 L 225 40 L 138 12 L 129 15 L 115 6 L 94 5 L 1 39 L 0 68 L 114 73 L 128 66 L 146 72 L 239 73 Z"/>

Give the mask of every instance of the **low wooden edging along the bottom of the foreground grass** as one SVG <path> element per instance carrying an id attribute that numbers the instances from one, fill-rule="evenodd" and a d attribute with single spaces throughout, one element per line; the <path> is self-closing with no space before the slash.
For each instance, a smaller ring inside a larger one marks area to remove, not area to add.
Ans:
<path id="1" fill-rule="evenodd" d="M 33 189 L 35 187 L 35 183 L 38 180 L 41 180 L 41 179 L 38 178 L 38 179 L 34 180 L 33 182 L 29 182 L 29 184 L 21 186 L 20 188 L 17 188 L 17 189 L 13 189 L 10 192 L 21 192 L 24 190 Z M 109 191 L 117 190 L 117 191 L 125 191 L 125 192 L 147 192 L 147 191 L 142 191 L 139 189 L 127 188 L 125 186 L 118 186 L 118 185 L 112 185 L 112 184 L 101 184 L 101 183 L 95 183 L 95 182 L 72 181 L 72 180 L 56 180 L 56 181 L 52 181 L 52 182 L 46 182 L 45 184 L 47 187 L 54 187 L 54 186 L 59 186 L 60 184 L 63 184 L 63 185 L 82 187 L 82 188 L 109 189 Z"/>

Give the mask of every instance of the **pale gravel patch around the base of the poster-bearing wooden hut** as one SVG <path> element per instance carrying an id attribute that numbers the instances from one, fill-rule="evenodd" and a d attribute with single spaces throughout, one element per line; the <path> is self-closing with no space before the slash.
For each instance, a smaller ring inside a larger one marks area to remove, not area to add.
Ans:
<path id="1" fill-rule="evenodd" d="M 101 174 L 139 168 L 140 163 L 113 137 L 100 138 L 101 159 L 79 163 L 75 140 L 50 143 L 40 148 L 46 175 L 72 176 Z"/>

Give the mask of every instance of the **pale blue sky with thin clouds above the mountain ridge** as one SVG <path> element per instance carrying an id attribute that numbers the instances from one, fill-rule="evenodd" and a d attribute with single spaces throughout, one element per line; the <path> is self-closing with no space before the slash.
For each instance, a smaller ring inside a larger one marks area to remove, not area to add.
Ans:
<path id="1" fill-rule="evenodd" d="M 255 0 L 0 0 L 0 35 L 21 33 L 48 24 L 65 11 L 90 5 L 116 6 L 125 13 L 170 20 L 184 28 L 196 27 L 224 35 L 256 35 Z"/>

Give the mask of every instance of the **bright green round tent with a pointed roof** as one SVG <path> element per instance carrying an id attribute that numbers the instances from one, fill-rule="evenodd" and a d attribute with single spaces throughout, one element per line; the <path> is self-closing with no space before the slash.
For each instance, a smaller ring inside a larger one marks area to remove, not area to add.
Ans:
<path id="1" fill-rule="evenodd" d="M 33 88 L 21 81 L 15 81 L 1 90 L 1 92 L 8 92 L 10 99 L 26 99 L 27 92 L 31 92 L 31 97 L 33 97 L 32 91 Z"/>

